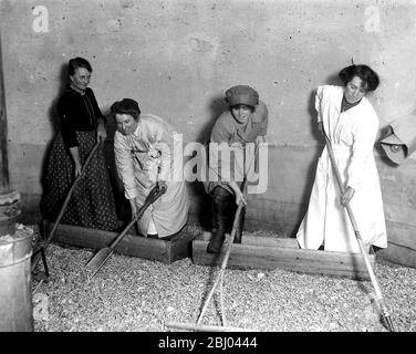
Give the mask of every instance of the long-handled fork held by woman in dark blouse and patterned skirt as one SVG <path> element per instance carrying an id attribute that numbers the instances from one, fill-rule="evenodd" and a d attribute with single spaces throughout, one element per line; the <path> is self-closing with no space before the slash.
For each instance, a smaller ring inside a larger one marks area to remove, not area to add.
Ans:
<path id="1" fill-rule="evenodd" d="M 65 212 L 65 209 L 66 209 L 66 206 L 67 204 L 70 202 L 70 199 L 72 197 L 72 194 L 74 192 L 75 188 L 76 188 L 76 185 L 79 184 L 79 181 L 83 178 L 84 174 L 85 174 L 85 169 L 86 167 L 90 165 L 90 162 L 91 159 L 93 158 L 93 156 L 95 155 L 98 146 L 101 145 L 102 140 L 98 140 L 97 143 L 95 143 L 94 147 L 91 149 L 85 163 L 84 163 L 84 166 L 82 166 L 82 169 L 81 169 L 81 174 L 75 178 L 75 180 L 73 181 L 71 188 L 70 188 L 70 191 L 67 192 L 66 195 L 66 198 L 62 205 L 62 208 L 60 210 L 60 214 L 58 215 L 58 218 L 53 225 L 53 228 L 51 230 L 51 232 L 49 233 L 46 240 L 43 242 L 43 244 L 37 250 L 33 252 L 33 256 L 32 256 L 32 264 L 31 264 L 31 272 L 34 271 L 34 269 L 37 268 L 39 261 L 42 259 L 43 260 L 43 264 L 44 264 L 44 268 L 45 268 L 45 275 L 48 277 L 49 275 L 49 271 L 48 271 L 48 267 L 46 267 L 46 259 L 45 259 L 45 249 L 48 248 L 49 243 L 51 243 L 52 241 L 52 238 L 54 237 L 55 235 L 55 231 L 58 229 L 58 226 L 60 225 L 61 222 L 61 219 Z M 45 229 L 44 229 L 45 231 Z"/>

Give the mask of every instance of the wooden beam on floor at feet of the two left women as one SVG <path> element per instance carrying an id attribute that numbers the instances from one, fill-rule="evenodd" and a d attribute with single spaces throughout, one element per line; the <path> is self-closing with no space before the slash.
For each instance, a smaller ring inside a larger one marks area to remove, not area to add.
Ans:
<path id="1" fill-rule="evenodd" d="M 52 222 L 46 222 L 46 232 L 50 232 L 52 227 Z M 117 232 L 112 231 L 60 225 L 52 242 L 100 250 L 111 244 L 117 236 Z M 180 231 L 171 240 L 145 238 L 127 233 L 114 249 L 114 252 L 170 264 L 179 259 L 190 257 L 190 242 L 194 238 L 195 236 L 187 233 L 186 230 Z"/>

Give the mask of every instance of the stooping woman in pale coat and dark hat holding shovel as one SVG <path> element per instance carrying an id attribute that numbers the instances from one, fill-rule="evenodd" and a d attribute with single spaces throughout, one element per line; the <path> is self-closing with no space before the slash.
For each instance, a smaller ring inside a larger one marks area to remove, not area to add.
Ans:
<path id="1" fill-rule="evenodd" d="M 185 226 L 189 209 L 185 181 L 174 180 L 175 131 L 156 115 L 141 114 L 132 98 L 115 102 L 111 111 L 117 124 L 115 163 L 132 217 L 156 184 L 167 187 L 137 221 L 138 231 L 145 237 L 170 238 Z"/>

